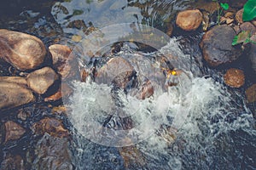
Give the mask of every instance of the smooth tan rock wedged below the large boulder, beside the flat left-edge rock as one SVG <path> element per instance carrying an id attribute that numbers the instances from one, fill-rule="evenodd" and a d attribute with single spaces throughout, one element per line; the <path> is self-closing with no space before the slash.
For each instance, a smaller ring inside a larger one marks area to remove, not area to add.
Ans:
<path id="1" fill-rule="evenodd" d="M 44 94 L 58 79 L 58 75 L 49 67 L 44 67 L 26 76 L 26 82 L 37 94 Z"/>

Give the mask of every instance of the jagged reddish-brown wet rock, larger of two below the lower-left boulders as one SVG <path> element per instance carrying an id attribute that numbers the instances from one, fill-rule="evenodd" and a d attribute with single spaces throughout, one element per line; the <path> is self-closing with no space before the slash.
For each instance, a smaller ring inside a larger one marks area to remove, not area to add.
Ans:
<path id="1" fill-rule="evenodd" d="M 49 135 L 57 138 L 65 138 L 69 135 L 67 129 L 64 128 L 61 120 L 53 117 L 45 117 L 39 122 L 36 122 L 32 126 L 34 133 L 44 134 L 49 133 Z"/>

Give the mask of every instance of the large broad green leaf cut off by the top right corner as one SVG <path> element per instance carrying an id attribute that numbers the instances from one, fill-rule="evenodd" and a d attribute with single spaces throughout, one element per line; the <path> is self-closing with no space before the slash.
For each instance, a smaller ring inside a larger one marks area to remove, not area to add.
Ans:
<path id="1" fill-rule="evenodd" d="M 256 17 L 256 0 L 248 0 L 243 6 L 242 20 L 249 21 Z"/>

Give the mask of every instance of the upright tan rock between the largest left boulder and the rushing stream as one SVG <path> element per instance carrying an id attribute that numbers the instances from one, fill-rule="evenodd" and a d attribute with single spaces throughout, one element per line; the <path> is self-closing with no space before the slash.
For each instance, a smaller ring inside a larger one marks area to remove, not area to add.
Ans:
<path id="1" fill-rule="evenodd" d="M 71 70 L 69 61 L 73 59 L 71 48 L 61 44 L 54 44 L 49 46 L 49 53 L 52 55 L 53 65 L 61 74 L 61 77 L 66 78 Z"/>

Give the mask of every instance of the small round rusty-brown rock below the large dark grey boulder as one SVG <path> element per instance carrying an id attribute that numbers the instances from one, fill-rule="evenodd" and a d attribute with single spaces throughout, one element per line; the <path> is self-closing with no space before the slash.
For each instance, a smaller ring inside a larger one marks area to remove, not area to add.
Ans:
<path id="1" fill-rule="evenodd" d="M 234 68 L 229 69 L 224 75 L 224 82 L 231 88 L 240 88 L 245 82 L 243 71 Z"/>

